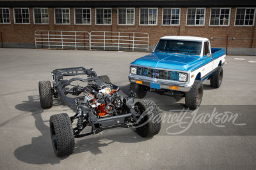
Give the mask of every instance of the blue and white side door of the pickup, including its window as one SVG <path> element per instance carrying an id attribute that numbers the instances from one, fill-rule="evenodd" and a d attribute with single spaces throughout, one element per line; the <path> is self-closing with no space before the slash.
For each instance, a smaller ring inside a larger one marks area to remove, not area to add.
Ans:
<path id="1" fill-rule="evenodd" d="M 209 41 L 204 42 L 204 52 L 203 52 L 203 59 L 205 62 L 205 66 L 203 67 L 203 75 L 206 76 L 207 74 L 211 73 L 213 67 L 213 57 L 212 55 L 207 56 L 207 53 L 211 53 L 211 48 L 209 45 Z"/>

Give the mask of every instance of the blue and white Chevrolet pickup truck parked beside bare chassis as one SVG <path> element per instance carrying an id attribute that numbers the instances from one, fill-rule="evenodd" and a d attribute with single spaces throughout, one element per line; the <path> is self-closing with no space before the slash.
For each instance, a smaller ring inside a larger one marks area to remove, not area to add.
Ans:
<path id="1" fill-rule="evenodd" d="M 140 99 L 152 89 L 178 91 L 195 110 L 203 97 L 202 81 L 210 79 L 211 87 L 220 87 L 225 57 L 225 50 L 211 48 L 207 38 L 164 36 L 154 52 L 130 64 L 130 89 Z"/>

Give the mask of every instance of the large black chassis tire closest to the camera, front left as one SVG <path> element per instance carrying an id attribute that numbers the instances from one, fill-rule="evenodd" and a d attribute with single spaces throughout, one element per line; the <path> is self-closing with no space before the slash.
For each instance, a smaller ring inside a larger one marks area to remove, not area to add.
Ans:
<path id="1" fill-rule="evenodd" d="M 67 113 L 51 116 L 50 131 L 52 146 L 57 157 L 67 156 L 74 152 L 74 131 Z"/>

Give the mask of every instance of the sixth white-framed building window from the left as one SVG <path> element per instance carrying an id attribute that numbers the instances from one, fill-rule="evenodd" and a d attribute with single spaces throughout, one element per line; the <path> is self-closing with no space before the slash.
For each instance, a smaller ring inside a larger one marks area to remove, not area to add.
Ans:
<path id="1" fill-rule="evenodd" d="M 96 8 L 96 24 L 111 25 L 111 8 Z"/>

